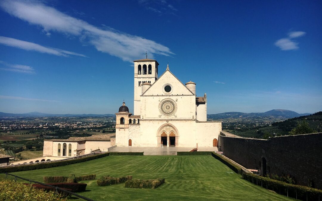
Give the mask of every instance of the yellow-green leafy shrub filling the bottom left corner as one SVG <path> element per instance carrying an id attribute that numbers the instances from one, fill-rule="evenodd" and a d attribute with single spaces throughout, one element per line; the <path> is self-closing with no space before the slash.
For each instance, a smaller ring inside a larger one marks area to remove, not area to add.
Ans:
<path id="1" fill-rule="evenodd" d="M 14 180 L 0 178 L 0 199 L 1 200 L 65 200 L 54 191 L 45 192 L 30 185 L 26 186 Z"/>

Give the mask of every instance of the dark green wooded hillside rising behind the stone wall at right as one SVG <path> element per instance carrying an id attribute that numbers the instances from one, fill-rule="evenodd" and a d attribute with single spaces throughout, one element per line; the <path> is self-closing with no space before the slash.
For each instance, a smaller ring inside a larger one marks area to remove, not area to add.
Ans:
<path id="1" fill-rule="evenodd" d="M 314 114 L 294 117 L 287 119 L 282 122 L 272 123 L 270 126 L 265 126 L 261 128 L 254 128 L 248 131 L 231 131 L 233 134 L 242 136 L 242 137 L 254 137 L 262 138 L 265 133 L 279 135 L 288 135 L 289 132 L 296 126 L 297 122 L 306 119 L 306 122 L 309 126 L 317 132 L 322 132 L 322 112 L 317 112 Z"/>

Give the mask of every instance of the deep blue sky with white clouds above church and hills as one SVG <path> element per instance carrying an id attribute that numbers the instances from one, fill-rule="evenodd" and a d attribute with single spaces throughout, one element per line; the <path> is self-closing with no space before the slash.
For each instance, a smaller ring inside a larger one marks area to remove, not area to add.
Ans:
<path id="1" fill-rule="evenodd" d="M 321 1 L 1 1 L 0 111 L 133 112 L 133 60 L 208 114 L 322 110 Z"/>

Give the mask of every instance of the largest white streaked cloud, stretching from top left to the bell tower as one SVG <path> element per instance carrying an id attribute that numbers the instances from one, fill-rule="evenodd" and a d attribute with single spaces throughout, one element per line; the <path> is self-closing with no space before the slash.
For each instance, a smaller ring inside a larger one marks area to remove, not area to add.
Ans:
<path id="1" fill-rule="evenodd" d="M 153 58 L 155 54 L 166 56 L 174 54 L 169 48 L 155 41 L 119 32 L 109 27 L 104 27 L 104 29 L 96 27 L 39 1 L 4 0 L 0 2 L 0 7 L 17 18 L 41 26 L 44 32 L 54 31 L 78 36 L 80 41 L 94 45 L 98 51 L 125 61 L 132 62 L 133 59 L 142 58 L 146 51 L 149 52 L 150 58 Z M 67 54 L 66 52 L 60 53 Z"/>

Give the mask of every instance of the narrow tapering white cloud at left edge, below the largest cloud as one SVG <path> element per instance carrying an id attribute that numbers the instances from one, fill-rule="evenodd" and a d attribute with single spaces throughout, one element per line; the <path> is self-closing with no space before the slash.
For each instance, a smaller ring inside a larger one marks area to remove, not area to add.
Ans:
<path id="1" fill-rule="evenodd" d="M 4 36 L 0 36 L 0 44 L 10 46 L 10 47 L 20 48 L 23 50 L 32 50 L 32 51 L 37 51 L 41 53 L 53 54 L 57 56 L 67 57 L 68 55 L 75 55 L 75 56 L 86 57 L 85 55 L 78 54 L 76 52 L 71 52 L 71 51 L 61 50 L 61 49 L 51 48 L 51 47 L 44 47 L 33 42 L 22 41 L 15 38 L 8 38 Z"/>

